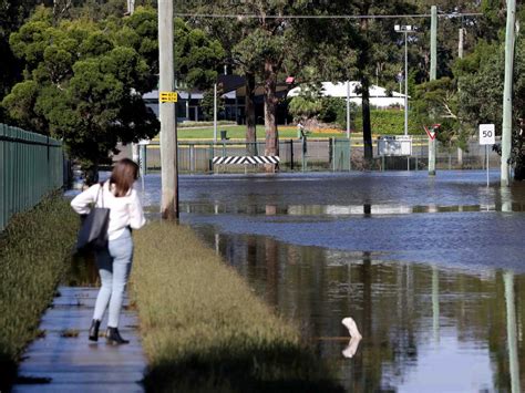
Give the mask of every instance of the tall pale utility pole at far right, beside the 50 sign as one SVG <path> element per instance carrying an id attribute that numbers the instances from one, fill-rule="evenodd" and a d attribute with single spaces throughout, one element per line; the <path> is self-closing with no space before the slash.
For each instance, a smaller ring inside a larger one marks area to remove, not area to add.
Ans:
<path id="1" fill-rule="evenodd" d="M 516 1 L 507 0 L 507 25 L 505 33 L 505 82 L 503 85 L 503 124 L 502 124 L 502 167 L 501 185 L 511 185 L 511 159 L 512 149 L 512 80 L 514 69 L 514 25 L 516 22 Z"/>

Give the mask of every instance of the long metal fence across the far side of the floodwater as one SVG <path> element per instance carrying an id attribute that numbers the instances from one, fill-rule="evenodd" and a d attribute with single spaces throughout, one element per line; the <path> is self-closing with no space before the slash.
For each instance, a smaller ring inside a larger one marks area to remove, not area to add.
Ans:
<path id="1" fill-rule="evenodd" d="M 497 141 L 496 141 L 497 142 Z M 429 138 L 414 136 L 412 154 L 406 156 L 380 156 L 378 141 L 372 141 L 373 164 L 375 170 L 425 170 L 429 165 Z M 161 154 L 158 142 L 152 142 L 146 151 L 146 167 L 158 169 Z M 264 155 L 265 142 L 248 144 L 244 141 L 224 139 L 214 142 L 179 141 L 178 168 L 181 173 L 212 172 L 261 172 L 262 166 L 255 165 L 217 165 L 213 166 L 214 156 L 241 156 L 247 152 Z M 249 154 L 248 154 L 249 155 Z M 490 166 L 500 165 L 500 156 L 476 139 L 469 141 L 467 148 L 460 151 L 437 143 L 436 169 L 484 169 L 488 155 Z M 307 138 L 279 141 L 280 172 L 315 172 L 315 170 L 352 170 L 363 168 L 363 144 L 361 138 Z"/>

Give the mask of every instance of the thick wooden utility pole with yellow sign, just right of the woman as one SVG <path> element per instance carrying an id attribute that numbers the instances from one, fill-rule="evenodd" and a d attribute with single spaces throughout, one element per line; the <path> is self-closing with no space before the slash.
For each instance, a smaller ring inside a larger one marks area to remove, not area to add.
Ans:
<path id="1" fill-rule="evenodd" d="M 173 0 L 158 0 L 158 66 L 159 92 L 175 89 L 173 61 Z M 159 102 L 161 166 L 162 166 L 162 218 L 178 218 L 178 168 L 176 104 Z"/>

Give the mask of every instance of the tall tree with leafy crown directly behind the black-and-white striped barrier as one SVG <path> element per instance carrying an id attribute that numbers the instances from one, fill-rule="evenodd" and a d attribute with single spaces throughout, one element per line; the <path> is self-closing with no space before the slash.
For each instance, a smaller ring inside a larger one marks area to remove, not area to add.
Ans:
<path id="1" fill-rule="evenodd" d="M 193 12 L 256 14 L 258 18 L 238 18 L 226 21 L 205 20 L 195 23 L 207 23 L 209 32 L 224 40 L 231 48 L 229 58 L 231 64 L 247 77 L 247 137 L 255 137 L 255 118 L 253 102 L 249 100 L 257 82 L 264 86 L 266 155 L 279 154 L 279 134 L 277 128 L 277 84 L 288 70 L 285 64 L 291 64 L 290 58 L 299 54 L 294 40 L 294 31 L 300 23 L 286 18 L 267 18 L 267 15 L 286 15 L 301 13 L 311 6 L 309 1 L 289 2 L 285 0 L 243 2 L 203 1 L 188 6 L 187 2 L 177 2 L 177 8 L 192 9 Z M 229 24 L 229 25 L 228 25 Z M 272 168 L 269 168 L 272 169 Z"/>

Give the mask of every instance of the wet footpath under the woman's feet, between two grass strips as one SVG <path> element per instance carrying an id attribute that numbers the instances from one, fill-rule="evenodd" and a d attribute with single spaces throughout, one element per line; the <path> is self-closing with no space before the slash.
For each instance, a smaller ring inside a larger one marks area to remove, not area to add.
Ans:
<path id="1" fill-rule="evenodd" d="M 13 392 L 143 392 L 146 368 L 136 312 L 127 310 L 120 328 L 130 344 L 107 345 L 87 340 L 97 288 L 59 288 L 40 323 L 42 338 L 24 353 Z M 105 332 L 106 321 L 101 325 Z"/>

